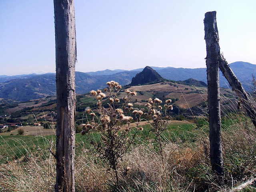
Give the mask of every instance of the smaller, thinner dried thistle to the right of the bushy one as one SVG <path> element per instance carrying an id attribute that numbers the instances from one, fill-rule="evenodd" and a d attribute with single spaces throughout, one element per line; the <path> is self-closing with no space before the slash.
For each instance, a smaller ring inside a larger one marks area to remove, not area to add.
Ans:
<path id="1" fill-rule="evenodd" d="M 162 158 L 162 164 L 164 164 L 164 154 L 163 154 L 163 148 L 162 148 L 162 139 L 161 134 L 164 132 L 164 130 L 167 129 L 167 125 L 170 123 L 171 117 L 166 115 L 167 110 L 172 110 L 173 107 L 171 105 L 172 100 L 168 99 L 165 101 L 166 104 L 164 105 L 164 113 L 163 108 L 160 106 L 162 103 L 162 100 L 155 98 L 149 98 L 148 103 L 146 104 L 146 107 L 148 108 L 148 115 L 152 117 L 152 122 L 148 121 L 151 124 L 151 132 L 155 134 L 155 140 L 159 145 L 160 148 L 160 155 Z"/>

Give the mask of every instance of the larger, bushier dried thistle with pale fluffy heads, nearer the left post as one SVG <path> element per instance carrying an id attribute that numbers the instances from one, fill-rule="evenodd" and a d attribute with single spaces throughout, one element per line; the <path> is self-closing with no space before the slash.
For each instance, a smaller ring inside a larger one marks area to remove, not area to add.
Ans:
<path id="1" fill-rule="evenodd" d="M 109 163 L 110 168 L 115 173 L 116 185 L 118 186 L 118 160 L 122 160 L 124 153 L 132 145 L 134 138 L 139 130 L 142 110 L 134 109 L 130 103 L 132 96 L 136 96 L 135 91 L 126 90 L 126 96 L 122 98 L 124 104 L 117 108 L 120 99 L 118 93 L 122 86 L 117 82 L 107 82 L 108 88 L 104 90 L 92 90 L 90 94 L 98 101 L 96 114 L 90 109 L 86 113 L 92 116 L 92 121 L 88 124 L 82 124 L 82 134 L 87 134 L 90 143 L 98 153 L 99 157 Z M 107 102 L 107 107 L 103 102 Z M 134 118 L 128 116 L 132 113 Z M 131 121 L 136 122 L 134 129 L 131 127 Z M 134 130 L 131 132 L 131 130 Z M 97 135 L 97 137 L 95 137 Z"/>

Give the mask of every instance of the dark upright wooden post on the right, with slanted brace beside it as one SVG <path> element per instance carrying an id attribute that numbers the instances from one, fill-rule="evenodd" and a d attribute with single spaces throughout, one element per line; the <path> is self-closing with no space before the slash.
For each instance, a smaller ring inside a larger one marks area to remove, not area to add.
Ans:
<path id="1" fill-rule="evenodd" d="M 208 108 L 210 126 L 210 161 L 212 171 L 218 176 L 224 176 L 221 145 L 220 122 L 220 89 L 218 55 L 220 54 L 216 11 L 204 15 L 204 32 L 206 42 L 206 67 L 208 83 Z"/>

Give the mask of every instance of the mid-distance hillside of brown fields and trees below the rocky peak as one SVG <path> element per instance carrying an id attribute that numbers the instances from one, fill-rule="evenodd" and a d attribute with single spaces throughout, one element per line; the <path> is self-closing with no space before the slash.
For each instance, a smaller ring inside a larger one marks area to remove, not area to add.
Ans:
<path id="1" fill-rule="evenodd" d="M 106 86 L 105 86 L 106 87 Z M 126 96 L 125 90 L 120 91 L 118 98 L 122 100 Z M 172 99 L 174 110 L 172 116 L 178 118 L 178 114 L 185 118 L 207 115 L 207 88 L 176 84 L 173 82 L 162 82 L 143 86 L 131 86 L 129 90 L 137 92 L 131 102 L 138 108 L 145 108 L 149 98 L 160 98 L 161 100 Z M 237 109 L 237 96 L 229 89 L 220 89 L 222 111 L 235 111 Z M 80 94 L 76 102 L 77 124 L 84 116 L 87 107 L 96 108 L 97 101 L 90 94 Z M 117 106 L 118 107 L 118 106 Z M 20 103 L 2 103 L 0 105 L 0 123 L 4 122 L 29 122 L 33 124 L 38 121 L 55 122 L 56 120 L 56 97 L 47 96 L 36 100 Z M 182 117 L 182 118 L 184 118 Z M 1 120 L 2 119 L 2 120 Z"/>

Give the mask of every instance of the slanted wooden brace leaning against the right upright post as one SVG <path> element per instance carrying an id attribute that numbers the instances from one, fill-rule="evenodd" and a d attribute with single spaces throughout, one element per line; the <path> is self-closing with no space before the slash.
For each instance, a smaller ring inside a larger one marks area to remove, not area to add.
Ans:
<path id="1" fill-rule="evenodd" d="M 228 65 L 228 62 L 226 62 L 222 54 L 219 55 L 219 60 L 219 68 L 221 72 L 228 80 L 230 86 L 236 92 L 237 96 L 241 99 L 242 104 L 246 110 L 246 113 L 251 118 L 254 127 L 256 127 L 256 106 L 254 105 L 252 98 L 248 96 L 248 94 L 245 92 L 242 84 L 236 78 L 235 74 L 231 70 L 230 66 Z"/>

